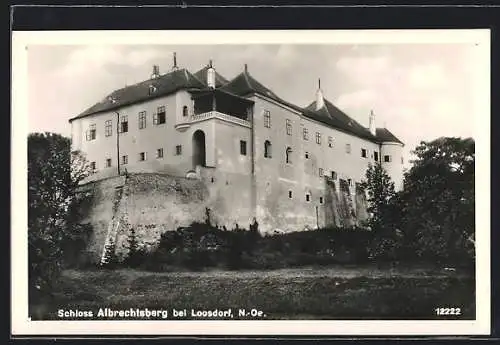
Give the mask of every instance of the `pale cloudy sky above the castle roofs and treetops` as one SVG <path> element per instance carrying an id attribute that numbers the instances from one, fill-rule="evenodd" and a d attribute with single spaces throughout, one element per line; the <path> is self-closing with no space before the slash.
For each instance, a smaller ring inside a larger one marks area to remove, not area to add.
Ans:
<path id="1" fill-rule="evenodd" d="M 70 136 L 68 119 L 113 90 L 177 64 L 192 73 L 210 59 L 218 73 L 249 73 L 298 106 L 315 99 L 318 79 L 326 99 L 368 127 L 387 127 L 405 143 L 405 157 L 422 140 L 474 137 L 478 64 L 472 43 L 30 45 L 30 132 Z M 411 157 L 410 157 L 411 158 Z M 408 160 L 408 159 L 406 159 Z"/>

